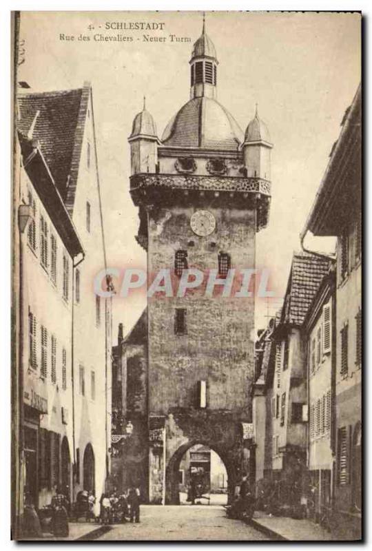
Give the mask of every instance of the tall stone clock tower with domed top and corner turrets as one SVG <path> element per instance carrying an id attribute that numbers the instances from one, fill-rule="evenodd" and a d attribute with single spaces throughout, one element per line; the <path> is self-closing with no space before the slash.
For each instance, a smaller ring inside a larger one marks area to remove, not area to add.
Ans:
<path id="1" fill-rule="evenodd" d="M 243 134 L 218 103 L 218 61 L 205 23 L 189 63 L 190 99 L 161 140 L 145 109 L 130 136 L 130 192 L 148 279 L 161 269 L 172 277 L 172 290 L 165 286 L 147 305 L 152 503 L 178 502 L 180 459 L 196 443 L 223 459 L 230 495 L 254 461 L 254 297 L 234 293 L 242 270 L 255 267 L 256 232 L 268 222 L 272 145 L 257 112 Z M 193 280 L 193 269 L 203 283 L 183 296 L 178 286 Z"/>

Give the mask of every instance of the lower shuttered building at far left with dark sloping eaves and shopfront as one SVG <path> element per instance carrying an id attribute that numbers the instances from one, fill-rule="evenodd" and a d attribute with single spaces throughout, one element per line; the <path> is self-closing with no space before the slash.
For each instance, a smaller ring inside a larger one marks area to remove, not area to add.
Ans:
<path id="1" fill-rule="evenodd" d="M 37 141 L 19 133 L 23 495 L 37 508 L 72 489 L 72 266 L 83 246 Z"/>

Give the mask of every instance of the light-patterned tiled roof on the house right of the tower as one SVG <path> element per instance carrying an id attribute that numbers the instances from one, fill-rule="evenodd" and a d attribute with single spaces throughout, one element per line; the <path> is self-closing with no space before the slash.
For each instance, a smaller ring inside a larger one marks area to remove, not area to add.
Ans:
<path id="1" fill-rule="evenodd" d="M 281 322 L 302 325 L 316 291 L 327 275 L 331 260 L 309 253 L 293 255 Z"/>

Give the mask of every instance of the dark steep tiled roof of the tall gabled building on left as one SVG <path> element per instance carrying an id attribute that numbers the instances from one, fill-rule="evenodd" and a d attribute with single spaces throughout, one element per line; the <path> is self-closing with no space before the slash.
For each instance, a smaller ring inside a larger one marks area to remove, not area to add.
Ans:
<path id="1" fill-rule="evenodd" d="M 90 85 L 76 90 L 21 94 L 18 98 L 19 131 L 27 136 L 36 118 L 32 138 L 52 173 L 56 187 L 72 214 L 76 179 Z M 70 178 L 68 178 L 70 176 Z"/>

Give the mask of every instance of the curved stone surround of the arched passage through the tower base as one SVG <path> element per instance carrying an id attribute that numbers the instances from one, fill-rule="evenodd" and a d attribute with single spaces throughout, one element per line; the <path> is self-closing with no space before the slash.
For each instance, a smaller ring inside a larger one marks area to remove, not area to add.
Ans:
<path id="1" fill-rule="evenodd" d="M 196 444 L 203 444 L 203 446 L 208 446 L 208 448 L 214 450 L 214 452 L 219 455 L 220 459 L 222 459 L 227 472 L 228 502 L 231 502 L 231 498 L 234 496 L 236 484 L 236 469 L 234 467 L 234 464 L 229 460 L 229 453 L 223 448 L 216 446 L 216 444 L 214 444 L 213 442 L 195 439 L 187 441 L 185 444 L 181 445 L 167 463 L 167 468 L 165 470 L 165 503 L 167 505 L 180 504 L 178 491 L 178 470 L 180 468 L 180 461 L 187 450 L 189 450 L 189 448 L 192 448 Z"/>

